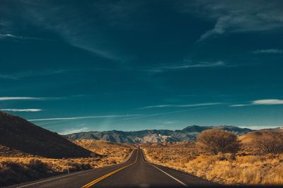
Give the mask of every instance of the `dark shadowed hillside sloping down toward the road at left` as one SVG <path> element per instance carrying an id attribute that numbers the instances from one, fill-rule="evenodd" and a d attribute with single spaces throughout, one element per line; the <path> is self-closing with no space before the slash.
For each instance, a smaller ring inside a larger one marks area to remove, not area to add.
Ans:
<path id="1" fill-rule="evenodd" d="M 6 153 L 21 151 L 46 158 L 88 157 L 91 153 L 59 134 L 4 112 L 0 112 L 0 145 Z"/>

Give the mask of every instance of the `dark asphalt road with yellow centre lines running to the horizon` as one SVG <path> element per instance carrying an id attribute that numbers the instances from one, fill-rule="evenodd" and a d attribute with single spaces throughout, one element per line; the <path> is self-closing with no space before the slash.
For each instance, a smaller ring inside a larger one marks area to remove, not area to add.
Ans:
<path id="1" fill-rule="evenodd" d="M 147 163 L 141 149 L 136 149 L 127 162 L 119 165 L 73 172 L 69 175 L 11 187 L 207 187 L 213 185 L 212 182 L 184 172 Z"/>

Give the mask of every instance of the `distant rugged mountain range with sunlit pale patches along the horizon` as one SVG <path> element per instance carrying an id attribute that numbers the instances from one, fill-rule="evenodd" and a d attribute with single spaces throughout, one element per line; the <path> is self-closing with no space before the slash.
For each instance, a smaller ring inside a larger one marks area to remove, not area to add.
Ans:
<path id="1" fill-rule="evenodd" d="M 232 131 L 237 135 L 246 134 L 252 129 L 220 125 L 216 127 L 204 127 L 192 125 L 181 130 L 142 130 L 142 131 L 84 131 L 74 134 L 67 134 L 69 139 L 94 139 L 112 141 L 117 143 L 161 143 L 163 141 L 194 141 L 197 135 L 207 129 L 223 129 Z"/>

